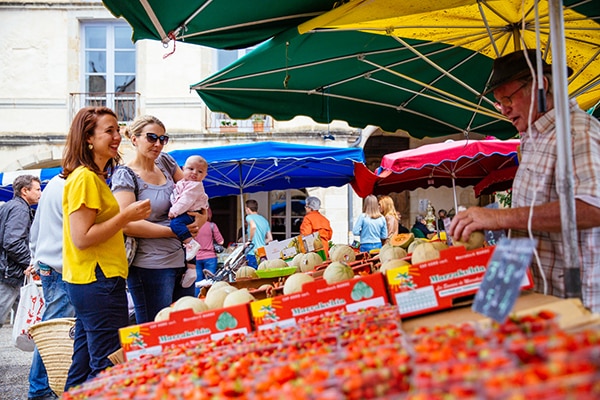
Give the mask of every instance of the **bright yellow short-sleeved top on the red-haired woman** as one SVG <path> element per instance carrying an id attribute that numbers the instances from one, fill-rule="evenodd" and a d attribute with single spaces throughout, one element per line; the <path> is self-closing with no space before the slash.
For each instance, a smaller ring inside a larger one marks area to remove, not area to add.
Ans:
<path id="1" fill-rule="evenodd" d="M 128 266 L 122 231 L 85 250 L 80 250 L 73 244 L 69 216 L 82 205 L 97 210 L 96 223 L 109 220 L 120 211 L 119 203 L 110 188 L 94 172 L 78 167 L 69 175 L 63 192 L 63 280 L 75 284 L 94 282 L 96 265 L 100 266 L 107 278 L 127 278 Z"/>

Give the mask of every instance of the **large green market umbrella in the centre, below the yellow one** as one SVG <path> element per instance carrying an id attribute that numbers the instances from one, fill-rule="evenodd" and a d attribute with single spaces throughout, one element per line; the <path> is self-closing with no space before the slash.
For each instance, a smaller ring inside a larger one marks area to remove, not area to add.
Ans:
<path id="1" fill-rule="evenodd" d="M 419 138 L 515 135 L 491 100 L 478 96 L 491 58 L 441 43 L 407 43 L 355 31 L 300 35 L 294 28 L 192 87 L 212 111 L 237 119 L 308 115 Z"/>

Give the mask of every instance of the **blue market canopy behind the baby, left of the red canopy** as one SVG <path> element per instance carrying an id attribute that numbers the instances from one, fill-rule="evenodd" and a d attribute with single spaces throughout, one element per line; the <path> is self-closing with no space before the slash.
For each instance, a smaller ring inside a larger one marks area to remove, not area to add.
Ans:
<path id="1" fill-rule="evenodd" d="M 343 186 L 364 163 L 362 148 L 256 142 L 169 152 L 179 165 L 192 155 L 208 162 L 209 197 L 305 187 Z"/>

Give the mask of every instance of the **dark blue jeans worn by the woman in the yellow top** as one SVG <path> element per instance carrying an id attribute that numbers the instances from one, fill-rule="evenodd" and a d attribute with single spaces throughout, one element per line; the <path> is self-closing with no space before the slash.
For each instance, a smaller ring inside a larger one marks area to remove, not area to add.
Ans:
<path id="1" fill-rule="evenodd" d="M 65 391 L 113 365 L 108 356 L 121 347 L 119 329 L 129 324 L 125 279 L 107 278 L 96 266 L 95 282 L 66 287 L 77 319 Z"/>

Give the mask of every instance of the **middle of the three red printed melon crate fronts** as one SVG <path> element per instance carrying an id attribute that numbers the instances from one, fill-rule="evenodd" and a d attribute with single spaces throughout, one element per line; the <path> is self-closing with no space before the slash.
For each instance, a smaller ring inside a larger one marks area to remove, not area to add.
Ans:
<path id="1" fill-rule="evenodd" d="M 324 279 L 307 283 L 299 293 L 276 296 L 250 303 L 257 329 L 294 326 L 302 319 L 328 311 L 357 311 L 388 304 L 381 274 L 327 285 Z"/>

